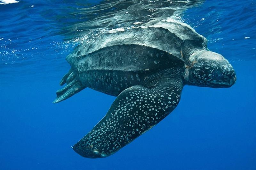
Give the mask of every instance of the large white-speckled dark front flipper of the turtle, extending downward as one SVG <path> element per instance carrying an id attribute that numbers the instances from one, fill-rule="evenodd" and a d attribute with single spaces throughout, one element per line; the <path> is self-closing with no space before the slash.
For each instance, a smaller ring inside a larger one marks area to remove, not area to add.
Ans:
<path id="1" fill-rule="evenodd" d="M 155 73 L 144 86 L 121 92 L 105 117 L 73 146 L 75 152 L 87 158 L 107 157 L 171 113 L 179 103 L 183 80 L 165 71 L 166 75 Z"/>

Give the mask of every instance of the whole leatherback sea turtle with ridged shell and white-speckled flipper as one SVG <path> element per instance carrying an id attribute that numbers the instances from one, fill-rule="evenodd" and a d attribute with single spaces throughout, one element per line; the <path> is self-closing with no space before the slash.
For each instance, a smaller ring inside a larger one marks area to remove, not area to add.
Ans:
<path id="1" fill-rule="evenodd" d="M 163 20 L 106 31 L 76 47 L 57 91 L 60 102 L 86 87 L 117 96 L 105 117 L 73 149 L 87 158 L 107 157 L 163 120 L 180 101 L 184 85 L 230 87 L 231 64 L 207 49 L 187 24 Z"/>

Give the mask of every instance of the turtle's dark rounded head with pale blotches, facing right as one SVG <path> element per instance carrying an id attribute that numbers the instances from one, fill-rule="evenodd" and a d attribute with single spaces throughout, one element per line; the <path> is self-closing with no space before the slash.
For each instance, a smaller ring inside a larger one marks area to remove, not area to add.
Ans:
<path id="1" fill-rule="evenodd" d="M 236 82 L 232 65 L 222 55 L 207 50 L 196 50 L 187 60 L 185 80 L 190 85 L 231 87 Z"/>

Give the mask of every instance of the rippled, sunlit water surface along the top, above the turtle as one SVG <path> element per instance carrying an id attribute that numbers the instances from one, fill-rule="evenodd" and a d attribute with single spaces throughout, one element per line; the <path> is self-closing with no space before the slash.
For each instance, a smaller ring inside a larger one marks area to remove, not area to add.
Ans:
<path id="1" fill-rule="evenodd" d="M 52 4 L 37 0 L 1 5 L 1 75 L 38 74 L 34 71 L 38 67 L 44 72 L 60 71 L 65 66 L 63 58 L 77 44 L 87 41 L 88 33 L 90 36 L 103 29 L 129 28 L 169 17 L 195 28 L 208 39 L 209 46 L 225 48 L 221 53 L 227 53 L 228 59 L 255 59 L 255 2 L 235 2 L 130 0 Z M 234 51 L 246 55 L 238 56 Z M 47 67 L 49 63 L 51 67 Z"/>

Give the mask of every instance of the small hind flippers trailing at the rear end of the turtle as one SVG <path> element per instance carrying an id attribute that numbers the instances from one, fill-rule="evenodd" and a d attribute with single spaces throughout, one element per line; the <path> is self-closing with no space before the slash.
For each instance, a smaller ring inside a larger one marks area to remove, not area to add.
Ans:
<path id="1" fill-rule="evenodd" d="M 60 85 L 64 85 L 65 83 L 67 83 L 67 85 L 56 92 L 57 98 L 53 101 L 53 103 L 66 100 L 86 88 L 76 79 L 76 76 L 71 69 L 60 80 Z"/>

